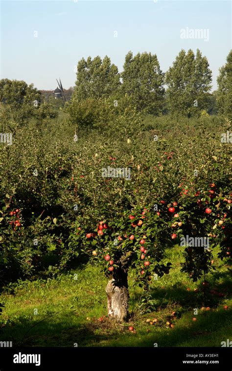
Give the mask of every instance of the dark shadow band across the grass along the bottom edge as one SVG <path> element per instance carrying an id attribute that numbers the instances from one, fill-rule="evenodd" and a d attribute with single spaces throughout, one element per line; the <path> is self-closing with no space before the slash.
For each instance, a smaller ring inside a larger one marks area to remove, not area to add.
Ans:
<path id="1" fill-rule="evenodd" d="M 197 316 L 197 321 L 182 322 L 176 321 L 173 329 L 166 328 L 165 324 L 156 328 L 156 325 L 149 326 L 150 332 L 147 333 L 144 326 L 139 329 L 137 334 L 128 331 L 127 326 L 119 328 L 120 325 L 109 324 L 109 320 L 104 323 L 97 321 L 69 326 L 65 322 L 38 323 L 26 336 L 23 334 L 32 327 L 23 317 L 18 319 L 18 323 L 4 331 L 0 331 L 1 341 L 12 341 L 13 346 L 182 346 L 189 340 L 196 340 L 194 346 L 221 346 L 223 329 L 230 327 L 232 322 L 232 310 L 205 311 Z M 37 328 L 36 328 L 37 327 Z M 11 333 L 11 335 L 10 335 Z"/>

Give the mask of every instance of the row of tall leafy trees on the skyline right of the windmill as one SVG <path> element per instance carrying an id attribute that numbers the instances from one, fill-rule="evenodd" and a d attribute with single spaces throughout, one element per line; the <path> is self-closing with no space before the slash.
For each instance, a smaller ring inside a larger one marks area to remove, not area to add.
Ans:
<path id="1" fill-rule="evenodd" d="M 131 51 L 125 57 L 120 74 L 108 56 L 103 60 L 82 58 L 77 65 L 77 79 L 73 102 L 86 99 L 120 99 L 128 95 L 139 112 L 159 115 L 181 113 L 197 116 L 202 110 L 210 110 L 216 101 L 219 113 L 232 111 L 232 51 L 227 63 L 219 70 L 218 90 L 210 94 L 212 73 L 209 62 L 197 49 L 181 50 L 172 67 L 164 74 L 156 54 Z M 166 85 L 166 89 L 164 86 Z"/>

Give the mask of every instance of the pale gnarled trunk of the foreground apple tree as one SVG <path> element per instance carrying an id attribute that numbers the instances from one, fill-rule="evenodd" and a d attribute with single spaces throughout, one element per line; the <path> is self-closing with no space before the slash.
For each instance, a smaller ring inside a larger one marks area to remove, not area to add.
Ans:
<path id="1" fill-rule="evenodd" d="M 117 270 L 107 286 L 106 293 L 108 298 L 108 316 L 117 322 L 126 322 L 129 317 L 129 291 L 127 283 L 127 272 Z"/>

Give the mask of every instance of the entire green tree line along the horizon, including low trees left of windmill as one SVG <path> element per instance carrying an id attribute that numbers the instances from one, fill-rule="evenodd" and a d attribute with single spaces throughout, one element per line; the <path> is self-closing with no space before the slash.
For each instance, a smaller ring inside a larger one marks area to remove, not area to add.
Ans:
<path id="1" fill-rule="evenodd" d="M 142 114 L 199 117 L 202 114 L 232 114 L 232 50 L 219 69 L 218 89 L 210 93 L 212 72 L 206 56 L 182 49 L 163 73 L 156 54 L 129 51 L 123 71 L 118 72 L 108 56 L 82 58 L 77 65 L 71 99 L 65 105 L 71 122 L 91 125 L 109 106 L 125 113 L 128 107 Z M 56 99 L 57 100 L 57 99 Z M 45 101 L 41 91 L 24 81 L 0 80 L 0 119 L 3 125 L 38 123 L 57 116 L 59 102 Z M 63 104 L 62 104 L 63 106 Z M 100 108 L 99 108 L 100 107 Z"/>

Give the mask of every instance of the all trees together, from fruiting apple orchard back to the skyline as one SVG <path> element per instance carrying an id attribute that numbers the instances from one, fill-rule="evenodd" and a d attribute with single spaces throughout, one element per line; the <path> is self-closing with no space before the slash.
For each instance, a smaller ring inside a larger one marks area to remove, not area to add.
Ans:
<path id="1" fill-rule="evenodd" d="M 147 52 L 128 52 L 121 74 L 108 56 L 81 59 L 64 104 L 0 80 L 1 131 L 13 132 L 0 144 L 0 286 L 100 265 L 108 315 L 124 322 L 128 273 L 149 297 L 176 245 L 183 281 L 207 286 L 214 247 L 229 271 L 231 66 L 232 51 L 216 95 L 199 49 L 165 74 Z"/>

